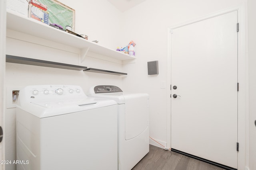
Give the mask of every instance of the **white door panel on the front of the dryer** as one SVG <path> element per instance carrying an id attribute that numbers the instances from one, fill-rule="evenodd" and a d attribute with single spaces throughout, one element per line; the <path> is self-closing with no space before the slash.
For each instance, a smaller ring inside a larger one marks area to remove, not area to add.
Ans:
<path id="1" fill-rule="evenodd" d="M 132 139 L 148 127 L 148 94 L 125 95 L 125 139 Z"/>

